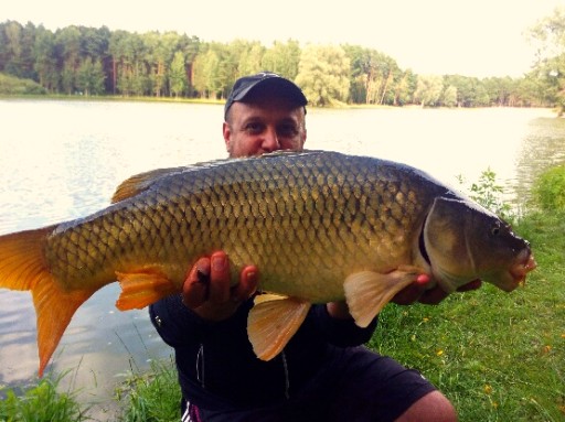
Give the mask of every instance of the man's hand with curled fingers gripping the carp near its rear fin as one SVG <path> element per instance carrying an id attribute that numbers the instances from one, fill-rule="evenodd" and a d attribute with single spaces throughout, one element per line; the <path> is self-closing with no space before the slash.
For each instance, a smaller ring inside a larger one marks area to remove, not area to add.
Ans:
<path id="1" fill-rule="evenodd" d="M 257 289 L 257 268 L 245 267 L 239 282 L 230 286 L 230 263 L 225 252 L 201 258 L 192 267 L 182 288 L 182 303 L 200 317 L 222 321 L 232 316 Z"/>

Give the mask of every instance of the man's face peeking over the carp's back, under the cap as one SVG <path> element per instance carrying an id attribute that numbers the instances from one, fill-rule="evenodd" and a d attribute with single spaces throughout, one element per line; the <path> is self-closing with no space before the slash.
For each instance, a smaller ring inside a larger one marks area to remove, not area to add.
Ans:
<path id="1" fill-rule="evenodd" d="M 280 98 L 234 102 L 223 132 L 232 158 L 301 151 L 306 142 L 305 109 Z"/>

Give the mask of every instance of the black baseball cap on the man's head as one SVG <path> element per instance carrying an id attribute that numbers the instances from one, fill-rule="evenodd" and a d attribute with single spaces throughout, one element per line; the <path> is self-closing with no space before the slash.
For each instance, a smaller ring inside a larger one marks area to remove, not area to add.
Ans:
<path id="1" fill-rule="evenodd" d="M 308 104 L 305 94 L 295 83 L 276 73 L 262 72 L 256 75 L 241 77 L 235 82 L 225 101 L 224 118 L 227 117 L 227 110 L 235 101 L 252 100 L 256 95 L 260 95 L 260 91 L 265 88 L 280 95 L 282 98 L 288 98 L 297 106 L 303 107 Z"/>

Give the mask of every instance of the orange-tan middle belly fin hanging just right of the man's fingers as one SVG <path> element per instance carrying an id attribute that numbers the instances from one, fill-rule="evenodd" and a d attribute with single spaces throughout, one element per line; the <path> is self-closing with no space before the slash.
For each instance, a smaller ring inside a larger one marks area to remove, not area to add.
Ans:
<path id="1" fill-rule="evenodd" d="M 247 335 L 255 355 L 262 360 L 277 356 L 296 334 L 310 306 L 311 303 L 296 297 L 257 296 L 247 317 Z"/>

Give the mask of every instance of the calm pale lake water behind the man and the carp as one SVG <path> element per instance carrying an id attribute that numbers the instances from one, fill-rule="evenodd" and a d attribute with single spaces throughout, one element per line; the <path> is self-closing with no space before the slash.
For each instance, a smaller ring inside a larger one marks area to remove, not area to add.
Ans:
<path id="1" fill-rule="evenodd" d="M 225 156 L 222 106 L 0 100 L 0 234 L 85 216 L 131 174 Z M 547 110 L 309 110 L 308 142 L 402 161 L 456 184 L 490 167 L 518 206 L 533 177 L 565 162 L 565 119 Z M 113 386 L 171 350 L 146 311 L 120 313 L 114 283 L 84 304 L 49 368 L 86 400 L 110 407 Z M 0 291 L 0 386 L 38 369 L 29 293 Z"/>

